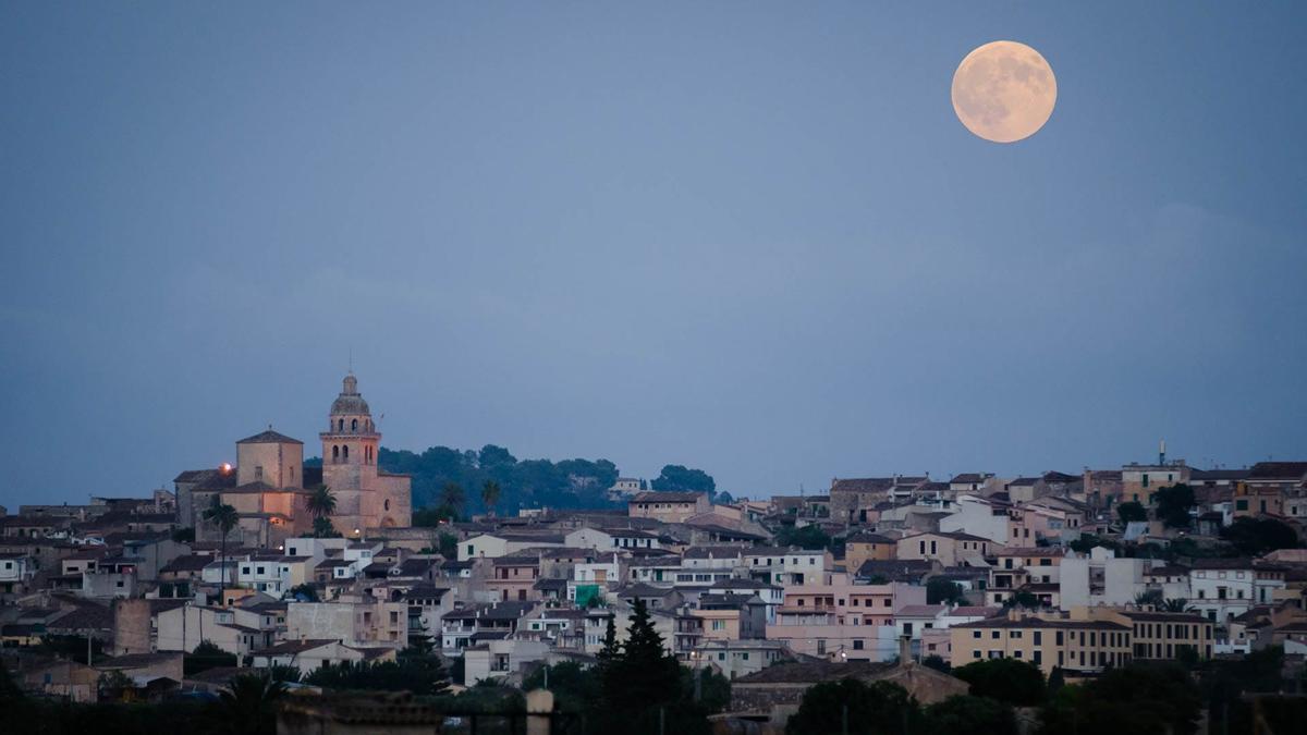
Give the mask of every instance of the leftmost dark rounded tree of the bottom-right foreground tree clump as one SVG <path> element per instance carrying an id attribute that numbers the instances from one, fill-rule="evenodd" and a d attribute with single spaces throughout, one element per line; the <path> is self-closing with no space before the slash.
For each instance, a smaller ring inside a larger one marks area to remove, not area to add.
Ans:
<path id="1" fill-rule="evenodd" d="M 898 684 L 857 679 L 822 681 L 804 693 L 799 711 L 786 723 L 787 735 L 847 732 L 850 735 L 902 735 L 918 732 L 916 701 Z"/>

